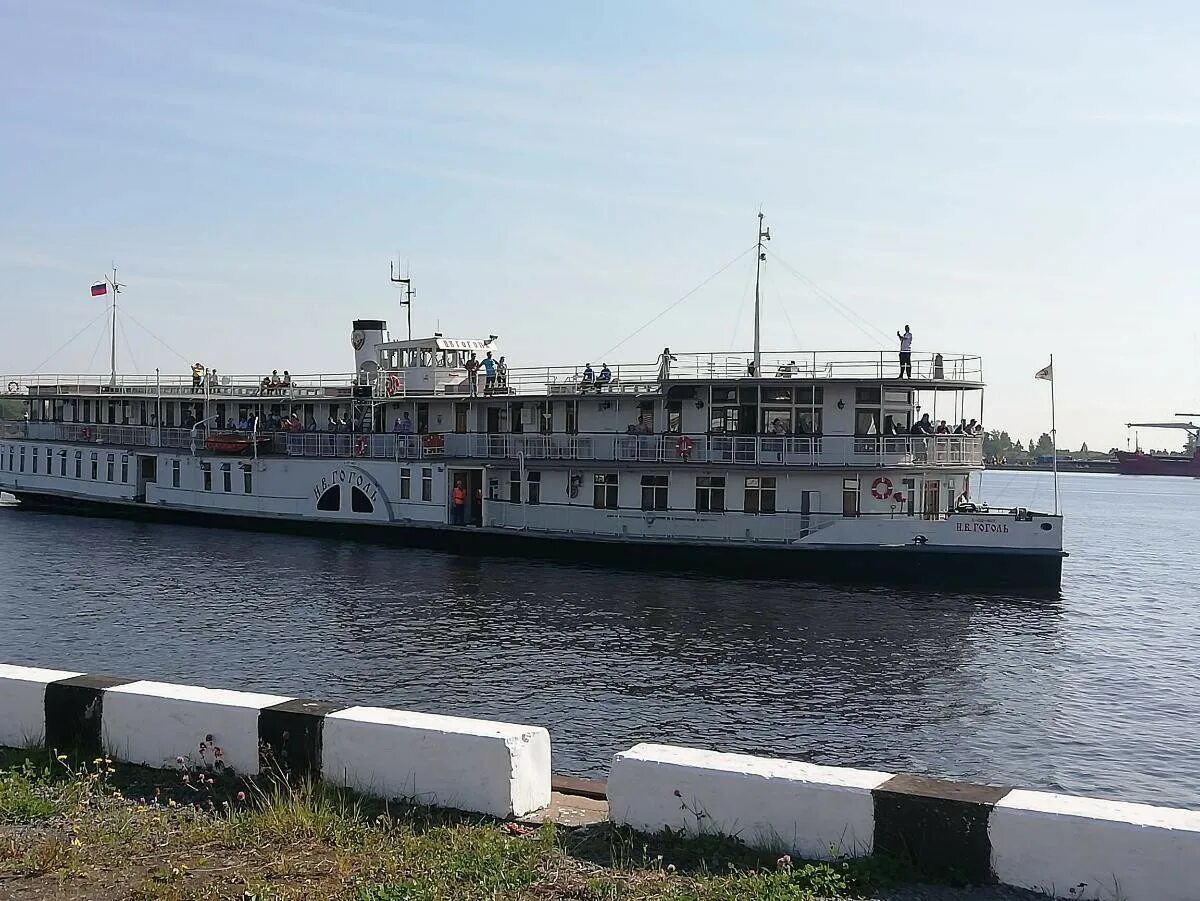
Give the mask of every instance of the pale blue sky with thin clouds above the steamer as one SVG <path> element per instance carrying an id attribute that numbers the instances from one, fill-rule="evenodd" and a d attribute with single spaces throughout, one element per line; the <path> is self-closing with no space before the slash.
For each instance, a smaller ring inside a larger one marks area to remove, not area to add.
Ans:
<path id="1" fill-rule="evenodd" d="M 1069 449 L 1200 409 L 1192 4 L 0 0 L 0 22 L 7 373 L 107 371 L 88 287 L 114 262 L 124 372 L 347 372 L 353 319 L 402 336 L 400 257 L 415 334 L 500 335 L 511 366 L 744 350 L 752 253 L 637 330 L 761 209 L 766 350 L 894 350 L 908 323 L 916 352 L 983 355 L 985 425 L 1021 439 L 1049 428 L 1054 354 Z"/>

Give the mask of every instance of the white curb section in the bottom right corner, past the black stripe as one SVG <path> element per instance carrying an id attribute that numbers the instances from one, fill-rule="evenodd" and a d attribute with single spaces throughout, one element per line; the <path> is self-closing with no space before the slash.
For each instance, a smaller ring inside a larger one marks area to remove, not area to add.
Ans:
<path id="1" fill-rule="evenodd" d="M 1075 901 L 1200 899 L 1200 811 L 1014 791 L 988 831 L 1009 885 Z"/>

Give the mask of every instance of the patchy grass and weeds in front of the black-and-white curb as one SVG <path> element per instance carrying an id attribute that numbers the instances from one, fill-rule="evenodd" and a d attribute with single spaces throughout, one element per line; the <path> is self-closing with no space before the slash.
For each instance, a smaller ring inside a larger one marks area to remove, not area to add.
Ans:
<path id="1" fill-rule="evenodd" d="M 710 836 L 523 828 L 282 777 L 0 751 L 5 899 L 814 901 L 911 876 Z"/>

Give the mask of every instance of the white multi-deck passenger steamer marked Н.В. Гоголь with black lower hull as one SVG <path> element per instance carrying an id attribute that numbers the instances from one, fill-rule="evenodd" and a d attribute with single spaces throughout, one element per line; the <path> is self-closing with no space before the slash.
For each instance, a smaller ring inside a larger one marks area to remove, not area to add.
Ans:
<path id="1" fill-rule="evenodd" d="M 756 292 L 752 352 L 611 367 L 500 370 L 494 335 L 382 319 L 353 323 L 334 374 L 119 376 L 114 350 L 108 376 L 7 377 L 28 419 L 0 422 L 0 489 L 458 553 L 1057 591 L 1062 517 L 976 503 L 982 436 L 914 428 L 982 409 L 980 358 L 767 353 L 758 318 Z"/>

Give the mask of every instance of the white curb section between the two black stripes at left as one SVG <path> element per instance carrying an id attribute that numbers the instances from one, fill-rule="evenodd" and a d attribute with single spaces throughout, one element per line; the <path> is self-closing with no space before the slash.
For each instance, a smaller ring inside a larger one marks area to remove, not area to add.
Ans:
<path id="1" fill-rule="evenodd" d="M 115 759 L 174 767 L 176 757 L 200 763 L 208 735 L 238 773 L 258 773 L 258 714 L 292 698 L 247 691 L 136 681 L 104 692 L 104 747 Z M 208 756 L 212 762 L 212 753 Z"/>

